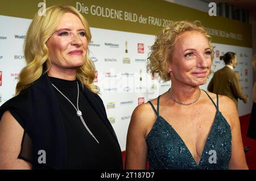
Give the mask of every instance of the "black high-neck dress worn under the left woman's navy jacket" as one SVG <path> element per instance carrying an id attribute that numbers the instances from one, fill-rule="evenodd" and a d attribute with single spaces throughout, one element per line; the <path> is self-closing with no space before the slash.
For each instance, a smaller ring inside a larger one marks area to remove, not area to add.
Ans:
<path id="1" fill-rule="evenodd" d="M 49 80 L 75 106 L 77 105 L 76 81 L 53 77 L 49 77 Z M 98 116 L 82 90 L 80 89 L 79 91 L 79 108 L 86 125 L 88 125 L 100 144 L 86 131 L 72 104 L 59 91 L 54 90 L 59 103 L 60 114 L 63 117 L 67 142 L 67 161 L 65 161 L 63 169 L 122 169 L 121 150 L 117 140 Z M 23 91 L 19 98 L 15 99 L 15 104 L 18 106 L 9 110 L 23 129 L 26 128 L 26 121 L 29 115 L 28 100 L 28 91 Z M 19 155 L 19 158 L 33 163 L 31 160 L 32 155 L 30 155 L 32 147 L 29 144 L 23 144 L 22 146 L 23 150 L 26 150 L 26 154 L 23 155 L 26 156 Z M 27 148 L 24 149 L 26 146 Z"/>

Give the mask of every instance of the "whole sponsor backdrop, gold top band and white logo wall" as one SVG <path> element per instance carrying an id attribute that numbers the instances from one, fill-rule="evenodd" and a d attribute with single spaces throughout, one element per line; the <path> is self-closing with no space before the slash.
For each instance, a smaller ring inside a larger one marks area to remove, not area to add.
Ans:
<path id="1" fill-rule="evenodd" d="M 156 33 L 175 20 L 200 20 L 207 27 L 216 46 L 213 71 L 224 66 L 219 59 L 222 54 L 227 51 L 237 53 L 238 65 L 234 70 L 240 74 L 243 91 L 250 100 L 247 104 L 239 101 L 238 112 L 240 116 L 250 113 L 253 89 L 251 26 L 160 0 L 1 2 L 0 105 L 15 94 L 19 72 L 26 65 L 24 38 L 33 15 L 42 12 L 40 2 L 46 3 L 46 7 L 74 6 L 88 20 L 92 31 L 90 58 L 97 69 L 94 84 L 101 89 L 100 96 L 122 150 L 125 150 L 127 128 L 134 108 L 156 98 L 171 86 L 171 82 L 159 82 L 146 73 L 146 58 Z M 210 78 L 212 75 L 201 89 L 207 90 Z"/>

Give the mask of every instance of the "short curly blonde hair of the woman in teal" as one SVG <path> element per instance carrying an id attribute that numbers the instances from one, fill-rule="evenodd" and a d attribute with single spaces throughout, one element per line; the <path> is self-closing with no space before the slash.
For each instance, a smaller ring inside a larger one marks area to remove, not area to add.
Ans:
<path id="1" fill-rule="evenodd" d="M 188 22 L 178 21 L 172 23 L 169 27 L 164 28 L 155 39 L 154 45 L 151 47 L 151 52 L 147 58 L 147 72 L 151 72 L 154 77 L 155 73 L 159 74 L 160 79 L 164 82 L 170 81 L 171 77 L 167 71 L 167 64 L 172 57 L 176 38 L 185 31 L 199 31 L 207 37 L 210 49 L 213 52 L 211 45 L 211 37 L 199 21 Z M 211 54 L 213 60 L 213 53 Z"/>

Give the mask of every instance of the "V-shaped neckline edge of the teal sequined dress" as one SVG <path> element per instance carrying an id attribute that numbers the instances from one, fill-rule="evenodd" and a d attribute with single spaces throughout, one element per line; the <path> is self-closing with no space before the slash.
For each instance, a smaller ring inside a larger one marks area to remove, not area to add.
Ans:
<path id="1" fill-rule="evenodd" d="M 214 127 L 214 124 L 215 124 L 215 122 L 216 122 L 217 113 L 218 113 L 218 110 L 216 110 L 216 112 L 215 112 L 214 120 L 213 120 L 212 126 L 210 127 L 210 131 L 209 131 L 209 133 L 208 133 L 207 139 L 206 139 L 206 141 L 205 141 L 205 143 L 204 143 L 204 148 L 203 148 L 203 151 L 202 151 L 202 153 L 201 153 L 201 157 L 200 157 L 200 159 L 199 159 L 199 163 L 198 163 L 198 164 L 196 163 L 195 158 L 194 158 L 193 155 L 191 154 L 191 151 L 188 149 L 188 146 L 185 144 L 185 142 L 183 141 L 183 139 L 180 137 L 179 133 L 177 133 L 177 132 L 175 131 L 175 129 L 172 127 L 172 125 L 171 125 L 170 123 L 168 123 L 168 121 L 166 121 L 166 119 L 164 119 L 164 118 L 163 118 L 162 116 L 160 116 L 160 115 L 159 115 L 158 117 L 156 117 L 156 119 L 158 119 L 159 117 L 162 118 L 163 121 L 164 121 L 164 123 L 168 124 L 168 126 L 171 127 L 171 130 L 176 134 L 176 136 L 179 138 L 179 140 L 181 141 L 181 143 L 183 143 L 183 145 L 184 145 L 184 147 L 185 147 L 185 150 L 187 150 L 187 152 L 188 152 L 188 154 L 190 155 L 190 157 L 191 157 L 193 163 L 194 163 L 197 167 L 199 167 L 199 166 L 200 166 L 200 163 L 201 163 L 201 161 L 202 161 L 202 158 L 204 157 L 205 149 L 206 149 L 208 140 L 210 140 L 210 135 L 211 135 L 211 133 L 212 133 L 212 131 L 213 131 L 213 127 Z M 156 123 L 156 121 L 155 121 L 155 123 Z"/>

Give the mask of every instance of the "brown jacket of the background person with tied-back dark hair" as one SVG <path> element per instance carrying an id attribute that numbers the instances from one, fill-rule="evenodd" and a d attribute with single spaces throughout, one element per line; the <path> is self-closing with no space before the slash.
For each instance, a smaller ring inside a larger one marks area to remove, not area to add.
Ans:
<path id="1" fill-rule="evenodd" d="M 231 70 L 228 66 L 216 71 L 213 78 L 207 87 L 208 91 L 215 94 L 226 95 L 234 102 L 238 103 L 237 99 L 246 100 L 246 95 L 242 91 L 239 75 Z"/>

